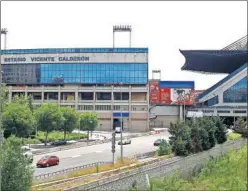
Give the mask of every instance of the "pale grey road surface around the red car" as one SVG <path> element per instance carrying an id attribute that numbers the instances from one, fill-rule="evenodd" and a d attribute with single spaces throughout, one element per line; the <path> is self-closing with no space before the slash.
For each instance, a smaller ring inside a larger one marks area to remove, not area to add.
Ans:
<path id="1" fill-rule="evenodd" d="M 169 133 L 166 131 L 161 132 L 160 134 L 131 139 L 132 144 L 123 145 L 124 157 L 133 156 L 138 153 L 155 151 L 157 147 L 154 147 L 153 143 L 158 138 L 164 138 L 168 140 Z M 95 162 L 112 161 L 111 143 L 36 155 L 34 156 L 34 164 L 36 164 L 36 162 L 45 155 L 58 156 L 60 158 L 60 164 L 58 166 L 52 166 L 48 168 L 36 168 L 34 174 L 35 176 Z M 118 157 L 120 157 L 120 145 L 116 144 L 115 158 L 117 159 Z"/>

